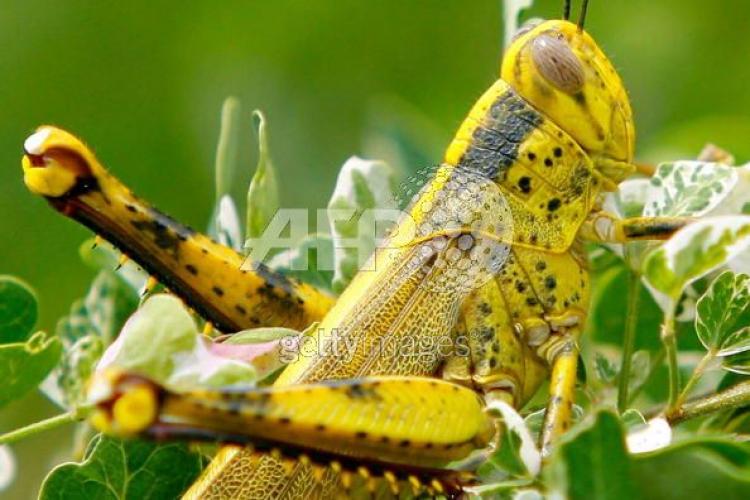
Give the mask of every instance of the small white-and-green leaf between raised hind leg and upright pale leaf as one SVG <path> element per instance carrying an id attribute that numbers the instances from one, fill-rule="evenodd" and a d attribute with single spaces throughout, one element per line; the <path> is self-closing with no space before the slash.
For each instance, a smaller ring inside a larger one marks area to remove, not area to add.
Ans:
<path id="1" fill-rule="evenodd" d="M 308 234 L 294 248 L 274 255 L 268 267 L 317 288 L 331 290 L 333 240 L 326 234 Z"/>

